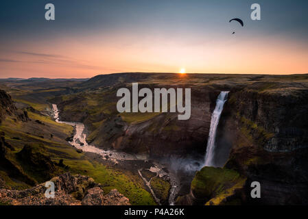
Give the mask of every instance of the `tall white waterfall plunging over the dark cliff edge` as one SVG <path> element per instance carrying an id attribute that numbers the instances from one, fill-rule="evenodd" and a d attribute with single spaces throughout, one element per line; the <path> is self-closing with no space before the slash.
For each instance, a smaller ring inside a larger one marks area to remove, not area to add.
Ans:
<path id="1" fill-rule="evenodd" d="M 209 132 L 209 140 L 206 146 L 206 155 L 205 155 L 205 164 L 204 166 L 215 166 L 214 155 L 215 155 L 215 138 L 218 123 L 220 122 L 220 115 L 224 109 L 224 103 L 228 99 L 228 91 L 220 92 L 220 95 L 217 97 L 216 107 L 212 114 L 211 118 L 211 127 Z"/>

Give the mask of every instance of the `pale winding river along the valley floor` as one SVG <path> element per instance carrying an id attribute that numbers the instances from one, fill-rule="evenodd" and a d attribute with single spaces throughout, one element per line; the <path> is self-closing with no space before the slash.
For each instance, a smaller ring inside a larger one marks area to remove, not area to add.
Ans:
<path id="1" fill-rule="evenodd" d="M 91 153 L 97 153 L 98 155 L 102 156 L 102 159 L 109 159 L 112 162 L 115 162 L 116 164 L 118 163 L 118 161 L 123 161 L 125 162 L 126 160 L 141 160 L 146 162 L 147 161 L 147 156 L 146 155 L 132 155 L 132 154 L 128 154 L 128 153 L 123 153 L 123 152 L 119 152 L 119 151 L 105 151 L 104 149 L 99 149 L 93 145 L 90 145 L 86 142 L 86 133 L 84 133 L 84 124 L 83 123 L 76 123 L 76 122 L 64 122 L 64 121 L 60 121 L 60 112 L 58 110 L 58 106 L 56 104 L 52 105 L 52 114 L 54 116 L 54 119 L 56 120 L 56 123 L 64 123 L 67 125 L 72 125 L 75 128 L 75 133 L 73 136 L 73 140 L 71 142 L 69 142 L 69 144 L 71 144 L 72 146 L 75 146 L 75 148 L 80 149 L 84 152 L 91 152 Z M 171 185 L 171 189 L 169 191 L 169 205 L 174 205 L 175 199 L 176 199 L 176 194 L 178 194 L 178 190 L 180 189 L 179 187 L 179 181 L 177 179 L 177 177 L 175 175 L 173 175 L 172 173 L 167 173 L 163 170 L 164 166 L 162 166 L 161 164 L 154 164 L 153 167 L 151 167 L 150 170 L 151 172 L 155 172 L 156 176 L 159 177 L 164 177 L 167 176 L 169 178 L 169 183 Z M 147 181 L 145 179 L 145 177 L 143 177 L 143 175 L 141 174 L 141 170 L 138 170 L 140 177 L 143 179 L 143 181 L 145 182 L 145 185 L 147 185 L 147 187 L 149 188 L 152 196 L 154 197 L 156 203 L 158 203 L 159 205 L 161 205 L 161 202 L 159 200 L 159 198 L 156 196 L 154 190 L 151 187 L 151 179 L 150 181 Z M 154 177 L 152 177 L 154 178 Z"/>

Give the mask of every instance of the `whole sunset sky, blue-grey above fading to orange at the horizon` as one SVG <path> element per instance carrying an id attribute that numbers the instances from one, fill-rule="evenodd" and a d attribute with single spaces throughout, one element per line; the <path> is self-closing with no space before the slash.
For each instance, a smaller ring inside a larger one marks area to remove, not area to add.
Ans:
<path id="1" fill-rule="evenodd" d="M 251 20 L 252 3 L 261 21 Z M 307 39 L 307 0 L 1 0 L 0 77 L 302 74 Z"/>

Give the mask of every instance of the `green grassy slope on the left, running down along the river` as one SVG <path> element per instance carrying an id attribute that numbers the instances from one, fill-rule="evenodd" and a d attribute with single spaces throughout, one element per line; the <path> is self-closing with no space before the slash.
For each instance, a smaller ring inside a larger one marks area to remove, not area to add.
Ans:
<path id="1" fill-rule="evenodd" d="M 43 110 L 48 105 L 32 103 L 27 100 L 20 100 L 34 107 L 35 110 Z M 29 118 L 32 121 L 21 122 L 12 120 L 7 117 L 0 125 L 0 131 L 4 131 L 5 140 L 14 146 L 14 151 L 8 152 L 8 158 L 16 167 L 28 175 L 34 181 L 41 183 L 43 179 L 36 174 L 35 169 L 31 166 L 23 165 L 22 162 L 16 159 L 16 154 L 19 153 L 25 144 L 32 146 L 35 152 L 42 153 L 55 163 L 60 159 L 64 160 L 64 164 L 69 166 L 69 171 L 74 174 L 82 174 L 93 177 L 98 183 L 104 185 L 104 191 L 109 192 L 113 188 L 117 188 L 119 192 L 130 199 L 132 205 L 155 205 L 154 200 L 149 192 L 142 185 L 139 185 L 132 179 L 132 176 L 124 175 L 123 172 L 108 168 L 98 162 L 86 157 L 83 153 L 78 153 L 72 146 L 63 139 L 71 135 L 73 127 L 64 124 L 55 123 L 49 116 L 28 112 Z M 39 120 L 43 124 L 37 123 Z M 48 133 L 48 134 L 46 134 Z M 51 138 L 50 133 L 53 134 Z M 43 150 L 40 150 L 44 148 Z M 54 175 L 68 171 L 65 168 L 57 168 Z M 8 177 L 8 171 L 0 171 L 0 177 L 5 180 L 11 188 L 22 189 L 28 188 L 29 185 L 22 181 L 16 181 L 13 177 Z M 45 180 L 45 179 L 44 179 Z"/>

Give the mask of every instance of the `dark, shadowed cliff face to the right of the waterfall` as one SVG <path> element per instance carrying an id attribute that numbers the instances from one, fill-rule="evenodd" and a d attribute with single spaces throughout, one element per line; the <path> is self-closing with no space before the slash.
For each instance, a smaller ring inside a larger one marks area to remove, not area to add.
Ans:
<path id="1" fill-rule="evenodd" d="M 230 147 L 225 168 L 247 177 L 243 204 L 307 205 L 308 90 L 275 85 L 263 90 L 268 83 L 252 83 L 231 90 L 218 127 L 217 152 Z M 252 181 L 261 183 L 261 198 L 250 197 Z"/>

